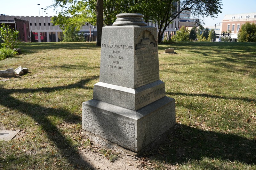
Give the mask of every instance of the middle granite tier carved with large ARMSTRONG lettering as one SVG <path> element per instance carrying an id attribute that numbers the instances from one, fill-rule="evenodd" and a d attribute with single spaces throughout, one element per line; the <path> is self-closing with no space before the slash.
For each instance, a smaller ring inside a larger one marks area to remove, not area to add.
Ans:
<path id="1" fill-rule="evenodd" d="M 164 96 L 165 87 L 161 80 L 136 89 L 98 82 L 93 89 L 93 99 L 132 110 L 139 110 Z"/>

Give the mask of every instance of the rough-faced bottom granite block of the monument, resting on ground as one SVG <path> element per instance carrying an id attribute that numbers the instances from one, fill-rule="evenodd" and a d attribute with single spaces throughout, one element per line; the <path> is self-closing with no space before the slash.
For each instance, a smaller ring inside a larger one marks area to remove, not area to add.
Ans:
<path id="1" fill-rule="evenodd" d="M 83 102 L 82 128 L 139 152 L 175 124 L 175 100 L 163 97 L 134 111 L 92 99 Z"/>

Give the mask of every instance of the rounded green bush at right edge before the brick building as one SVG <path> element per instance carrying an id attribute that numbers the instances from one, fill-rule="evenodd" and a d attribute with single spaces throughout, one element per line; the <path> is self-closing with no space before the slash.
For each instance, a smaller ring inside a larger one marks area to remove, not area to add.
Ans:
<path id="1" fill-rule="evenodd" d="M 255 42 L 256 41 L 256 24 L 246 22 L 243 24 L 237 34 L 240 42 Z"/>

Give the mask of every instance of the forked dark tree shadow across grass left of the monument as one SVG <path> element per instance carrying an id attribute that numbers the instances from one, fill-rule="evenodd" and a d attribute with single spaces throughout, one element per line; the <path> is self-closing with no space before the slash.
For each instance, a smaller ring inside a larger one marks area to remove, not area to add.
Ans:
<path id="1" fill-rule="evenodd" d="M 61 117 L 62 120 L 68 123 L 78 123 L 81 122 L 81 116 L 74 115 L 68 112 L 65 109 L 61 108 L 47 108 L 43 107 L 40 104 L 32 104 L 28 102 L 24 102 L 18 100 L 11 95 L 13 93 L 35 93 L 35 92 L 53 92 L 60 89 L 72 89 L 72 88 L 85 88 L 92 89 L 90 87 L 86 87 L 88 82 L 91 80 L 97 79 L 99 76 L 93 76 L 90 78 L 83 79 L 75 84 L 67 85 L 67 86 L 57 86 L 57 87 L 44 87 L 39 89 L 1 89 L 0 95 L 1 100 L 0 104 L 4 107 L 7 107 L 12 110 L 17 110 L 23 114 L 26 114 L 33 118 L 35 122 L 38 122 L 38 125 L 41 126 L 42 130 L 46 133 L 47 138 L 52 141 L 52 143 L 57 147 L 59 152 L 73 165 L 76 169 L 76 160 L 79 159 L 79 162 L 82 162 L 82 166 L 84 168 L 90 167 L 90 162 L 84 160 L 77 152 L 76 146 L 72 144 L 68 138 L 65 137 L 64 134 L 61 133 L 60 129 L 54 125 L 51 120 L 47 118 L 47 116 L 58 116 Z M 75 158 L 76 160 L 74 160 Z M 11 162 L 9 162 L 11 163 Z M 4 162 L 2 162 L 4 164 Z"/>

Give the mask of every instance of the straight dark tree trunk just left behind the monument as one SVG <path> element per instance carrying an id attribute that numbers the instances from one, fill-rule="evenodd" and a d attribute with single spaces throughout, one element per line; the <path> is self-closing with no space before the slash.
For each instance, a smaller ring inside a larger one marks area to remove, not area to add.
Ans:
<path id="1" fill-rule="evenodd" d="M 103 27 L 103 0 L 97 0 L 96 4 L 97 15 L 97 46 L 101 46 L 101 34 Z"/>

